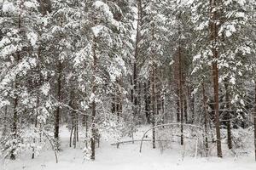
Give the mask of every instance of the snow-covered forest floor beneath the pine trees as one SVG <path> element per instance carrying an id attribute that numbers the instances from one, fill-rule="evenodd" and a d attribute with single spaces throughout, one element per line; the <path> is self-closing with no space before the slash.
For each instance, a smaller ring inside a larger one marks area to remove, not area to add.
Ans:
<path id="1" fill-rule="evenodd" d="M 145 127 L 140 128 L 135 139 L 141 139 Z M 16 161 L 1 161 L 0 170 L 253 170 L 256 168 L 253 154 L 243 156 L 182 156 L 182 148 L 172 144 L 172 148 L 161 152 L 151 149 L 150 142 L 145 142 L 143 152 L 139 153 L 139 143 L 120 144 L 119 149 L 103 141 L 96 149 L 96 161 L 84 160 L 84 143 L 79 142 L 76 149 L 69 147 L 69 132 L 61 128 L 61 152 L 59 163 L 55 163 L 54 152 L 44 149 L 35 159 L 31 154 L 21 156 Z"/>

